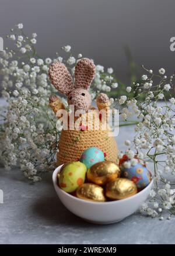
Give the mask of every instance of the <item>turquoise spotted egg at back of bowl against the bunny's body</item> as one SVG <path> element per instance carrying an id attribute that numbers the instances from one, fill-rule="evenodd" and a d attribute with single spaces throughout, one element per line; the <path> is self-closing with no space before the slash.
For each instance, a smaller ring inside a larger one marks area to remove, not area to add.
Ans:
<path id="1" fill-rule="evenodd" d="M 80 162 L 86 165 L 86 168 L 90 168 L 95 165 L 95 163 L 104 161 L 104 153 L 99 148 L 93 146 L 92 148 L 86 149 L 82 155 Z"/>

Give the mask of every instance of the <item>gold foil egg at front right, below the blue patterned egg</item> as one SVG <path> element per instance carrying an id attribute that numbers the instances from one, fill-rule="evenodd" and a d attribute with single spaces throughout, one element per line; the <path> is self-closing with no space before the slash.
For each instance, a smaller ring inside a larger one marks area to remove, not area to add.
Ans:
<path id="1" fill-rule="evenodd" d="M 136 193 L 136 185 L 129 179 L 119 178 L 106 185 L 106 196 L 110 199 L 124 199 Z"/>

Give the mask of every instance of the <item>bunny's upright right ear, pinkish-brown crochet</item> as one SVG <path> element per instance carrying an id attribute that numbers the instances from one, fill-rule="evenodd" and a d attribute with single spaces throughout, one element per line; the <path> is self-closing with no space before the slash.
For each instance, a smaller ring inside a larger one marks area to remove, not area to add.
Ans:
<path id="1" fill-rule="evenodd" d="M 79 60 L 75 67 L 75 87 L 88 89 L 95 76 L 96 66 L 87 58 Z"/>

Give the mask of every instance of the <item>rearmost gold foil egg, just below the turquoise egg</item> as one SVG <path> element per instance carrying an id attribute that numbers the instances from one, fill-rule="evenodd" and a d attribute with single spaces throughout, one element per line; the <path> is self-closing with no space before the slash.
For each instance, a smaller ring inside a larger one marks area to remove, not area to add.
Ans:
<path id="1" fill-rule="evenodd" d="M 105 185 L 107 182 L 119 178 L 120 173 L 117 163 L 104 161 L 95 163 L 95 165 L 88 169 L 87 178 L 89 182 Z"/>

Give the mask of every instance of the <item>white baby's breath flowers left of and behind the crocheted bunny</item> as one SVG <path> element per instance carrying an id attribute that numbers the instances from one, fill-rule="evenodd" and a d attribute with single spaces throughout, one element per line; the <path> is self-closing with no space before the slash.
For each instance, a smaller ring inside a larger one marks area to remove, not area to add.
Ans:
<path id="1" fill-rule="evenodd" d="M 79 53 L 76 59 L 72 56 L 71 46 L 67 45 L 62 47 L 67 54 L 65 59 L 58 53 L 54 59 L 43 59 L 34 47 L 36 33 L 26 36 L 22 23 L 11 32 L 7 38 L 12 40 L 15 49 L 6 48 L 0 56 L 2 97 L 8 103 L 0 111 L 0 160 L 6 169 L 18 164 L 27 178 L 37 182 L 42 172 L 55 167 L 62 129 L 48 107 L 50 95 L 57 93 L 48 80 L 48 66 L 53 62 L 64 62 L 70 71 L 74 71 L 82 54 Z M 109 68 L 107 72 L 104 74 L 104 67 L 97 65 L 92 98 L 96 97 L 97 90 L 111 90 L 107 83 L 113 81 L 113 69 Z M 113 98 L 110 101 L 113 102 Z"/>

